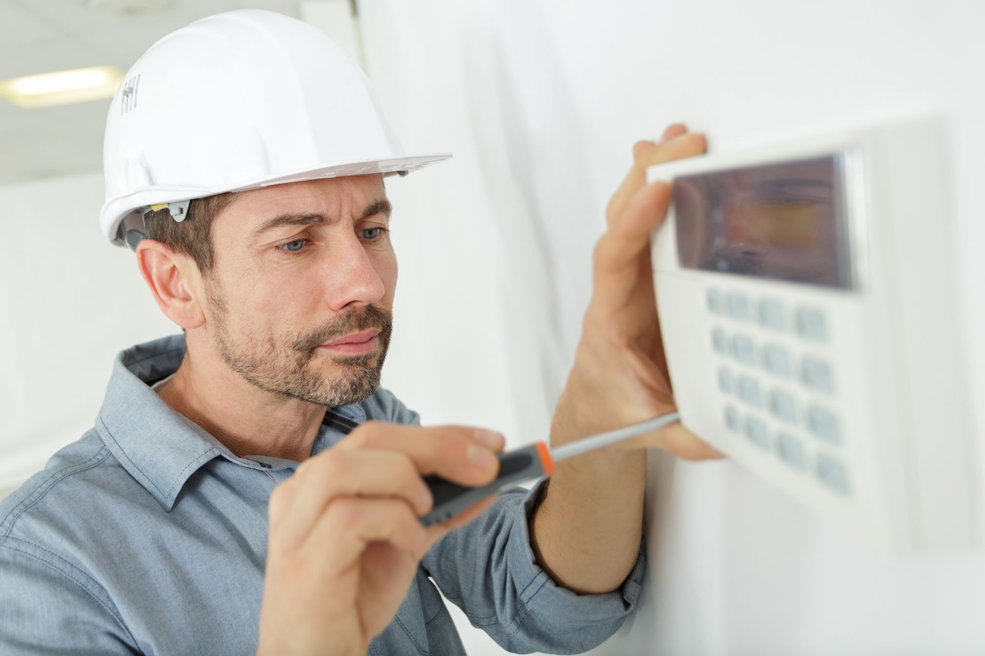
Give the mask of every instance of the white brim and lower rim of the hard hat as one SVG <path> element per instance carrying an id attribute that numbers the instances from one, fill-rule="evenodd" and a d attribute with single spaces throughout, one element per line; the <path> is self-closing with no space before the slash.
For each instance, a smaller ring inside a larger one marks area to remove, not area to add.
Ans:
<path id="1" fill-rule="evenodd" d="M 283 185 L 304 180 L 319 178 L 342 178 L 354 175 L 371 175 L 382 173 L 384 176 L 407 174 L 417 171 L 430 164 L 444 161 L 451 157 L 450 152 L 436 152 L 423 155 L 401 155 L 398 157 L 367 158 L 362 161 L 342 164 L 327 164 L 317 167 L 305 167 L 302 170 L 287 174 L 267 176 L 233 186 L 216 185 L 212 187 L 176 187 L 176 186 L 145 186 L 133 187 L 125 194 L 119 194 L 107 199 L 99 211 L 99 225 L 106 239 L 117 246 L 125 246 L 124 236 L 131 228 L 143 230 L 144 208 L 152 205 L 174 203 L 176 201 L 191 201 L 194 199 L 215 196 L 227 192 L 244 192 L 261 187 Z"/>

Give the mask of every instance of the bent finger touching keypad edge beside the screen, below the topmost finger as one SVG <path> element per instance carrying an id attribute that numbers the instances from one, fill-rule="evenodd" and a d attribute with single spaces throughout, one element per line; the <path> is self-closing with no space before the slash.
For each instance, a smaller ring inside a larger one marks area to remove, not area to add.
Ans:
<path id="1" fill-rule="evenodd" d="M 639 256 L 649 249 L 650 231 L 663 223 L 670 200 L 667 183 L 655 182 L 640 189 L 619 222 L 596 244 L 592 304 L 602 316 L 624 307 L 637 284 Z"/>

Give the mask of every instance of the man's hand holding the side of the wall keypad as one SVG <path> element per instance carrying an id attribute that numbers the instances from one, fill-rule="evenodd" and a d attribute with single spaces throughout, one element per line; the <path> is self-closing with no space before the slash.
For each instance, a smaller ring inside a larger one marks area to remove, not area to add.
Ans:
<path id="1" fill-rule="evenodd" d="M 634 424 L 673 411 L 650 267 L 650 231 L 666 216 L 671 188 L 646 185 L 646 167 L 704 152 L 700 134 L 681 124 L 659 144 L 633 147 L 633 164 L 606 212 L 608 228 L 594 254 L 592 300 L 575 364 L 552 426 L 553 444 Z M 689 460 L 721 457 L 680 423 L 624 442 L 659 447 Z"/>

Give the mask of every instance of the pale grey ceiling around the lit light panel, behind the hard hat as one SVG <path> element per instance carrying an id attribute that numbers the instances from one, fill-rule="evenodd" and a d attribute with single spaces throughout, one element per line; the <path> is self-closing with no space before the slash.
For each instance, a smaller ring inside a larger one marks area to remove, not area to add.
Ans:
<path id="1" fill-rule="evenodd" d="M 164 34 L 230 9 L 298 16 L 292 0 L 172 0 L 153 14 L 108 16 L 85 0 L 0 0 L 0 80 L 88 66 L 126 71 Z M 0 99 L 0 185 L 102 169 L 109 98 L 24 109 Z"/>

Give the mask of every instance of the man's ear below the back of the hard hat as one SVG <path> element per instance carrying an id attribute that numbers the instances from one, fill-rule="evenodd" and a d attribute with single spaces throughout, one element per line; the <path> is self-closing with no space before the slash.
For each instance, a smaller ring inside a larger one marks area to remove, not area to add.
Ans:
<path id="1" fill-rule="evenodd" d="M 162 242 L 142 239 L 137 244 L 137 267 L 168 319 L 185 329 L 205 323 L 199 299 L 201 275 L 191 258 Z"/>

